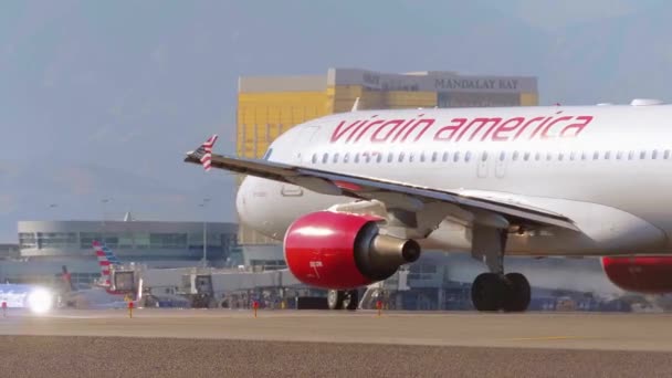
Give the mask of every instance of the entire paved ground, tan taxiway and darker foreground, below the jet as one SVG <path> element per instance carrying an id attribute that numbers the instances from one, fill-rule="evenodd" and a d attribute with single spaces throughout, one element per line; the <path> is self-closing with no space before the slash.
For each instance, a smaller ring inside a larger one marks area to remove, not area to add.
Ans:
<path id="1" fill-rule="evenodd" d="M 672 314 L 136 309 L 0 318 L 7 377 L 670 377 Z"/>

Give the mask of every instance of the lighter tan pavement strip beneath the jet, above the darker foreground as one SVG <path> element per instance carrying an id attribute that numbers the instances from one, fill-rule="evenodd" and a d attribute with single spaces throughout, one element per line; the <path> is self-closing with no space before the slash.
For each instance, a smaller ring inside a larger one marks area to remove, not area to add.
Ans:
<path id="1" fill-rule="evenodd" d="M 672 314 L 135 309 L 23 314 L 1 335 L 672 351 Z"/>

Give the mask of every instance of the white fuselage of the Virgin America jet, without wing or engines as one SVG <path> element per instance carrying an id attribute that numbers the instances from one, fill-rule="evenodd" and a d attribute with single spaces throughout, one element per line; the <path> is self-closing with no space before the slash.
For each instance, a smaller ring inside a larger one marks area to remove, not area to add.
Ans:
<path id="1" fill-rule="evenodd" d="M 366 111 L 298 125 L 271 161 L 479 193 L 563 214 L 581 232 L 522 231 L 506 253 L 672 253 L 672 106 Z M 245 178 L 241 219 L 282 240 L 303 214 L 351 198 Z M 423 246 L 469 251 L 469 224 L 447 219 Z"/>

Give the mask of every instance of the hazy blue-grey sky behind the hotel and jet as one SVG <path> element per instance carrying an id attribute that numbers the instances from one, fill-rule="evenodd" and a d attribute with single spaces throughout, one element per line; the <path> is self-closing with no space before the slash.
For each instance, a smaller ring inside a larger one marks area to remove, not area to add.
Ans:
<path id="1" fill-rule="evenodd" d="M 543 104 L 670 101 L 670 14 L 662 0 L 4 1 L 0 242 L 21 219 L 234 220 L 231 178 L 181 160 L 211 133 L 233 151 L 239 75 L 447 70 L 537 76 Z"/>

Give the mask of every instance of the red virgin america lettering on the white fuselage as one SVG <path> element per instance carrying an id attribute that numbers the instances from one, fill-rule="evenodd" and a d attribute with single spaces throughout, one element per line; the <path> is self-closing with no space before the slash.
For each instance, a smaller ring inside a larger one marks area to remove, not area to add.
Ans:
<path id="1" fill-rule="evenodd" d="M 410 119 L 377 119 L 377 115 L 374 115 L 368 119 L 342 120 L 334 128 L 329 141 L 405 144 L 430 137 L 435 141 L 573 138 L 582 133 L 594 119 L 592 116 L 561 113 L 532 118 L 452 118 L 448 123 L 424 118 L 423 114 Z"/>

